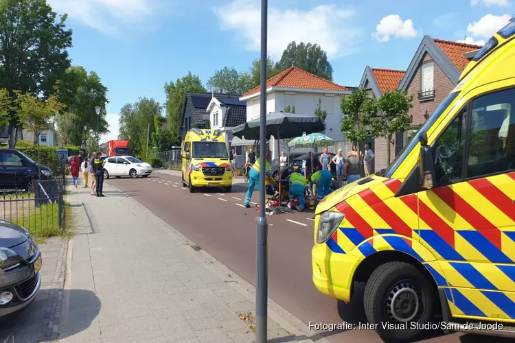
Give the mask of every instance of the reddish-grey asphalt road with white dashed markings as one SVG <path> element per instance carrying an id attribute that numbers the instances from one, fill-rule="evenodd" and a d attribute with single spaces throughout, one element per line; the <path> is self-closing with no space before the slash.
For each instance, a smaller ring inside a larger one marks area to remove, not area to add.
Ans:
<path id="1" fill-rule="evenodd" d="M 258 212 L 245 209 L 246 184 L 234 185 L 231 193 L 222 189 L 190 193 L 181 178 L 154 174 L 149 178 L 106 180 L 133 197 L 165 222 L 194 241 L 218 261 L 255 285 L 255 218 Z M 220 193 L 218 193 L 220 192 Z M 253 202 L 258 202 L 254 192 Z M 363 304 L 345 304 L 323 296 L 312 284 L 311 248 L 314 228 L 312 213 L 268 215 L 268 295 L 303 322 L 367 322 Z M 356 301 L 355 301 L 356 300 Z M 326 332 L 330 342 L 382 342 L 375 331 Z M 507 341 L 494 338 L 497 343 Z M 492 338 L 479 335 L 442 335 L 434 332 L 423 342 L 472 343 Z"/>

